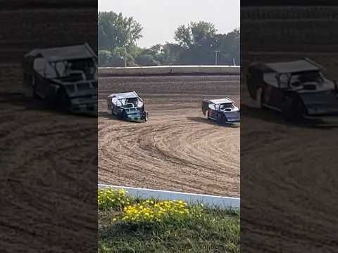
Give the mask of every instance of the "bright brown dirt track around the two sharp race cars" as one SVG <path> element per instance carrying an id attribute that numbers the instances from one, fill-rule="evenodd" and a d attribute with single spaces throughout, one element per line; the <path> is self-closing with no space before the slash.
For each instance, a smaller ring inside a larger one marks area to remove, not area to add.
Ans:
<path id="1" fill-rule="evenodd" d="M 108 115 L 111 93 L 137 91 L 149 121 Z M 201 112 L 203 98 L 239 106 L 239 77 L 99 78 L 99 183 L 239 196 L 239 127 Z"/>

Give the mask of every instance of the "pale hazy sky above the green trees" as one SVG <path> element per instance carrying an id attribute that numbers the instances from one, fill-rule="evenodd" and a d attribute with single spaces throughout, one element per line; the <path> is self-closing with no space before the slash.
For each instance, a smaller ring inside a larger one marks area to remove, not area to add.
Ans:
<path id="1" fill-rule="evenodd" d="M 142 27 L 137 44 L 149 47 L 174 41 L 179 25 L 200 20 L 215 24 L 218 33 L 240 25 L 239 0 L 99 0 L 99 11 L 122 12 Z"/>

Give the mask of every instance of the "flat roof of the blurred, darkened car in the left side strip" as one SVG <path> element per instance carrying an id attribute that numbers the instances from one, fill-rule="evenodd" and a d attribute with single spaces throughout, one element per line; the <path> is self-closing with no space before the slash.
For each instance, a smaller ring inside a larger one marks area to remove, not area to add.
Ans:
<path id="1" fill-rule="evenodd" d="M 88 44 L 75 46 L 61 46 L 54 48 L 35 49 L 27 53 L 27 55 L 37 56 L 41 54 L 48 62 L 56 62 L 59 60 L 76 60 L 85 58 L 96 58 L 95 53 Z M 26 56 L 27 56 L 26 55 Z"/>

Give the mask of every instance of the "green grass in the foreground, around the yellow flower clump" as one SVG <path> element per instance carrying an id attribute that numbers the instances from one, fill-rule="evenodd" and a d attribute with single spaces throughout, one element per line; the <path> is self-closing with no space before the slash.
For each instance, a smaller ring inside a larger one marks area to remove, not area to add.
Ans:
<path id="1" fill-rule="evenodd" d="M 128 200 L 127 205 L 142 202 Z M 200 205 L 188 208 L 195 212 L 168 215 L 160 222 L 126 222 L 121 219 L 123 207 L 101 200 L 99 252 L 240 252 L 239 212 Z"/>

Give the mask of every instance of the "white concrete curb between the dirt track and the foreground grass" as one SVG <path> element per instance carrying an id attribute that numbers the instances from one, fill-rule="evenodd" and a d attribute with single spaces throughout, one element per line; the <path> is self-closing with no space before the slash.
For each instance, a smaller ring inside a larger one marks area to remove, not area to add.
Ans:
<path id="1" fill-rule="evenodd" d="M 239 197 L 223 197 L 215 195 L 204 195 L 195 193 L 181 193 L 169 190 L 154 190 L 144 188 L 133 188 L 125 186 L 111 186 L 99 184 L 100 188 L 124 189 L 133 197 L 155 198 L 158 200 L 183 200 L 189 204 L 203 203 L 209 207 L 219 207 L 221 209 L 239 209 Z"/>

